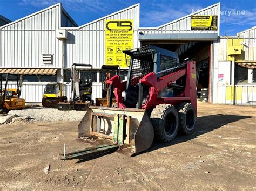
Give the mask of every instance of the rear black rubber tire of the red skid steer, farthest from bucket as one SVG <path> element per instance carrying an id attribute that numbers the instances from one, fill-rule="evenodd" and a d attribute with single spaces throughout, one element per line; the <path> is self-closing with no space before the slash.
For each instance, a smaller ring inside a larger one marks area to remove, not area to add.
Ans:
<path id="1" fill-rule="evenodd" d="M 179 114 L 179 133 L 188 135 L 194 131 L 196 126 L 196 110 L 191 103 L 177 105 Z"/>

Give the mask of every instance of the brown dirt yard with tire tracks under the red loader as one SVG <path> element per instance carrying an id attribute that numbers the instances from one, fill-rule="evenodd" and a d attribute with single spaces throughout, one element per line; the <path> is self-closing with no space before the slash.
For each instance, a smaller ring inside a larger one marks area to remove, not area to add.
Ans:
<path id="1" fill-rule="evenodd" d="M 60 160 L 79 122 L 0 126 L 0 189 L 256 189 L 256 107 L 198 104 L 196 131 L 136 157 Z"/>

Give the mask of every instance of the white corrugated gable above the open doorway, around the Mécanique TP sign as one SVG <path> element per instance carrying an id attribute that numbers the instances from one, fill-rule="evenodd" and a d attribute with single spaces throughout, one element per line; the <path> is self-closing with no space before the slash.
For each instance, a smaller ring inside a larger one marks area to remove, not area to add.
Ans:
<path id="1" fill-rule="evenodd" d="M 163 33 L 216 33 L 211 30 L 191 30 L 191 16 L 192 15 L 218 15 L 218 34 L 220 24 L 220 3 L 208 6 L 196 13 L 192 13 L 173 22 L 161 25 L 159 27 L 145 27 L 140 28 L 139 31 L 144 34 L 163 34 Z"/>

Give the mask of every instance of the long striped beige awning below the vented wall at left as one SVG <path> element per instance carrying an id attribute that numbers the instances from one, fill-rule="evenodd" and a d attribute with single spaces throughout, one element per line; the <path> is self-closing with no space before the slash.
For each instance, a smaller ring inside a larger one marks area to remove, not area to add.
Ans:
<path id="1" fill-rule="evenodd" d="M 0 68 L 0 73 L 22 74 L 22 75 L 55 75 L 57 69 L 35 69 L 35 68 Z"/>

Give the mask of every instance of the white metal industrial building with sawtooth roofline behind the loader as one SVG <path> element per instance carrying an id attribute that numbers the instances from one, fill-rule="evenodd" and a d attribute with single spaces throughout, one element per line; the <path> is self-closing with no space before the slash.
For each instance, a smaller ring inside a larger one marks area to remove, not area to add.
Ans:
<path id="1" fill-rule="evenodd" d="M 199 63 L 202 73 L 198 80 L 209 88 L 209 102 L 256 103 L 255 27 L 237 36 L 220 37 L 220 3 L 159 27 L 140 27 L 139 9 L 136 4 L 78 26 L 58 3 L 5 24 L 0 27 L 0 72 L 24 74 L 22 97 L 26 102 L 41 102 L 49 81 L 63 82 L 70 97 L 72 63 L 90 63 L 92 97 L 100 97 L 99 69 L 105 64 L 106 53 L 104 22 L 127 19 L 133 20 L 133 48 L 153 44 L 177 52 L 180 60 Z M 216 16 L 215 30 L 193 30 L 192 16 Z M 66 40 L 56 38 L 59 32 L 67 34 Z M 239 47 L 240 53 L 232 53 L 232 48 Z"/>

